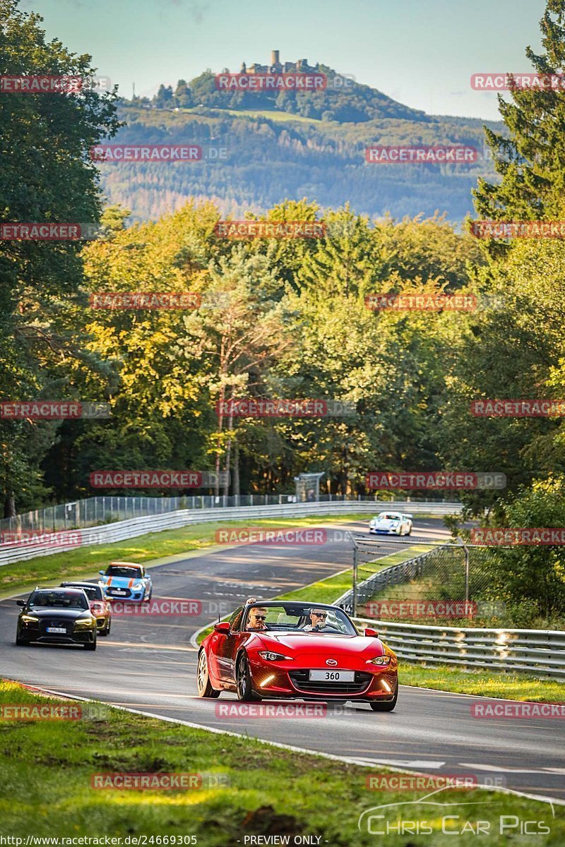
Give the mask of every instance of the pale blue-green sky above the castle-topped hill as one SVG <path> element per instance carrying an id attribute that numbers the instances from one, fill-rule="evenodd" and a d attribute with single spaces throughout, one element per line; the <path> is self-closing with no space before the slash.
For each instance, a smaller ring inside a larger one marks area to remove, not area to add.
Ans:
<path id="1" fill-rule="evenodd" d="M 540 48 L 544 0 L 23 0 L 48 37 L 90 53 L 125 97 L 207 68 L 307 58 L 427 113 L 496 119 L 474 73 L 521 73 Z"/>

